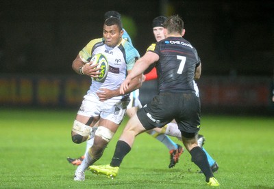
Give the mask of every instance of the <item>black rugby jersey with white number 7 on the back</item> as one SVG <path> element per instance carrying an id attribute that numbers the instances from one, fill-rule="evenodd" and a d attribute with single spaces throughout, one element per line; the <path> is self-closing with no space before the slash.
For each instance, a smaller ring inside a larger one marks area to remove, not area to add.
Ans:
<path id="1" fill-rule="evenodd" d="M 169 37 L 151 44 L 147 50 L 160 57 L 156 63 L 159 93 L 195 93 L 193 79 L 200 59 L 190 42 Z"/>

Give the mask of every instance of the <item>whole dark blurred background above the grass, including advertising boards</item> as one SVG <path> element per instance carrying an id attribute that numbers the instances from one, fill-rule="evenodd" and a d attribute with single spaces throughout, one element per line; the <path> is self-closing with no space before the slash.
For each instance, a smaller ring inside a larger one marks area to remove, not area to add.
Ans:
<path id="1" fill-rule="evenodd" d="M 273 115 L 274 1 L 1 1 L 0 106 L 78 108 L 90 78 L 71 63 L 102 37 L 103 14 L 116 10 L 140 55 L 154 42 L 151 23 L 179 14 L 184 38 L 202 62 L 202 112 Z M 157 92 L 144 83 L 142 104 Z"/>

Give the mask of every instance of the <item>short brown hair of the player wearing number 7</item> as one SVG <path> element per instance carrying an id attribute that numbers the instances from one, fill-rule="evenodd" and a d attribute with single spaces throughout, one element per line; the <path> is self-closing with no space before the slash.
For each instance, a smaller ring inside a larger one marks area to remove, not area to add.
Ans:
<path id="1" fill-rule="evenodd" d="M 164 21 L 163 27 L 169 33 L 182 33 L 184 29 L 184 21 L 178 15 L 171 16 Z"/>

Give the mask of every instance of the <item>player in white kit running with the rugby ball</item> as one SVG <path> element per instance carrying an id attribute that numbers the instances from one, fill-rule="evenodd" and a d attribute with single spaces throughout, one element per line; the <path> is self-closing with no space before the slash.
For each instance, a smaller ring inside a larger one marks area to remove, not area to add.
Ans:
<path id="1" fill-rule="evenodd" d="M 84 171 L 101 158 L 105 147 L 123 121 L 129 103 L 129 93 L 142 85 L 142 74 L 140 74 L 132 81 L 126 91 L 127 94 L 120 93 L 119 88 L 125 76 L 131 72 L 135 61 L 140 58 L 136 48 L 122 36 L 121 20 L 114 17 L 108 18 L 103 25 L 103 38 L 91 40 L 80 50 L 72 64 L 77 74 L 97 77 L 100 72 L 95 73 L 95 71 L 100 69 L 94 69 L 97 65 L 90 63 L 90 59 L 93 55 L 102 53 L 108 59 L 110 67 L 103 83 L 92 80 L 73 123 L 72 140 L 74 143 L 82 143 L 88 139 L 92 127 L 99 121 L 94 143 L 75 171 L 74 180 L 76 181 L 83 181 Z M 108 93 L 104 101 L 101 101 L 98 94 L 104 91 L 112 92 Z"/>

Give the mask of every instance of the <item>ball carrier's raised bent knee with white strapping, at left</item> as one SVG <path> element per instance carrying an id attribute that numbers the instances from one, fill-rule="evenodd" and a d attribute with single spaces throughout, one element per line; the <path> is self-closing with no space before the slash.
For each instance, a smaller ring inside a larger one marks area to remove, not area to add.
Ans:
<path id="1" fill-rule="evenodd" d="M 91 129 L 90 126 L 86 126 L 84 123 L 75 120 L 73 123 L 73 129 L 71 130 L 73 143 L 79 144 L 86 141 L 90 136 Z"/>

